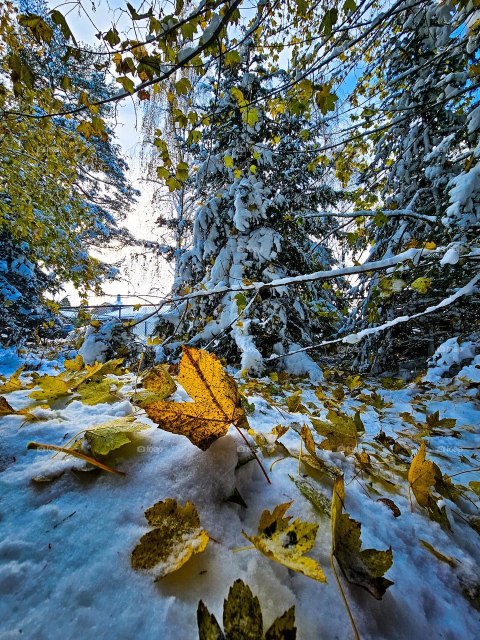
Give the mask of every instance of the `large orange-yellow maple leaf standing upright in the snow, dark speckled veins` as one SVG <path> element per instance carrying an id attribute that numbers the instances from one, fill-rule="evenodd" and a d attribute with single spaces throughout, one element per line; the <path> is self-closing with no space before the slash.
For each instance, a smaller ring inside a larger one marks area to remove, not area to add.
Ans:
<path id="1" fill-rule="evenodd" d="M 206 451 L 232 422 L 246 422 L 236 383 L 213 353 L 184 346 L 177 380 L 193 402 L 147 404 L 145 412 L 160 429 L 184 435 Z"/>

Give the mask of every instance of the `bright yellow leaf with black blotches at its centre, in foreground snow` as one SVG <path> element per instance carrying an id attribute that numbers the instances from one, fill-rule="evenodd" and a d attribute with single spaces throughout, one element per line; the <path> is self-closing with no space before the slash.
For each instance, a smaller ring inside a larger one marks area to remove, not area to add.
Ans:
<path id="1" fill-rule="evenodd" d="M 259 536 L 243 536 L 250 540 L 255 547 L 271 560 L 303 573 L 308 578 L 318 582 L 326 582 L 321 566 L 316 560 L 303 554 L 307 553 L 315 544 L 319 525 L 312 522 L 300 522 L 297 518 L 290 522 L 291 516 L 284 518 L 285 511 L 291 502 L 284 502 L 273 509 L 272 513 L 266 509 L 260 516 Z"/>

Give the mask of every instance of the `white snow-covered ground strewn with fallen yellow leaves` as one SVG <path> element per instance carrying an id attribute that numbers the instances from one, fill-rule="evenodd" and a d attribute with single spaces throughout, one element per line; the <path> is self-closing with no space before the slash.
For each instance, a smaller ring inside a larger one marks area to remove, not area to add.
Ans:
<path id="1" fill-rule="evenodd" d="M 52 373 L 55 364 L 46 363 L 44 367 Z M 0 371 L 8 376 L 18 365 L 12 358 L 4 358 Z M 332 399 L 333 390 L 346 376 L 339 374 L 335 378 L 333 374 L 326 378 L 332 380 L 323 383 L 327 399 Z M 129 397 L 134 374 L 126 374 L 120 380 L 124 383 L 123 396 Z M 264 380 L 265 385 L 267 382 Z M 303 406 L 310 412 L 321 412 L 324 419 L 324 401 L 314 393 L 318 383 L 305 380 L 298 384 L 303 391 Z M 307 413 L 287 410 L 285 396 L 294 390 L 293 386 L 269 397 L 262 392 L 265 385 L 251 380 L 250 387 L 244 388 L 244 392 L 252 392 L 248 401 L 255 404 L 255 412 L 248 416 L 252 429 L 270 433 L 278 424 L 310 424 Z M 403 464 L 397 460 L 394 475 L 388 465 L 378 466 L 390 484 L 378 477 L 359 474 L 354 454 L 345 456 L 343 452 L 320 449 L 317 452 L 344 472 L 346 511 L 362 522 L 364 548 L 392 546 L 394 563 L 386 577 L 394 585 L 381 601 L 349 585 L 339 572 L 364 640 L 479 637 L 479 612 L 470 600 L 476 598 L 478 606 L 480 538 L 465 519 L 466 515 L 480 513 L 478 498 L 468 490 L 470 481 L 480 479 L 479 472 L 474 471 L 479 466 L 478 388 L 458 380 L 419 385 L 385 390 L 380 383 L 363 381 L 355 392 L 344 387 L 346 397 L 337 401 L 341 411 L 350 415 L 353 409 L 361 408 L 366 433 L 359 439 L 358 451 L 365 449 L 372 459 L 374 455 L 385 460 L 391 457 L 385 447 L 373 440 L 380 427 L 410 449 L 412 456 L 417 451 L 421 440 L 408 435 L 417 435 L 419 429 L 399 417 L 400 413 L 413 414 L 419 423 L 436 410 L 440 419 L 456 419 L 452 429 L 436 429 L 450 435 L 424 437 L 428 458 L 444 474 L 467 472 L 452 479 L 467 488 L 465 497 L 460 497 L 457 504 L 449 500 L 439 503 L 446 505 L 452 531 L 429 520 L 413 496 L 410 513 L 407 458 Z M 392 405 L 375 410 L 359 399 L 358 392 L 368 395 L 375 389 L 383 403 Z M 18 410 L 34 404 L 27 397 L 30 392 L 19 390 L 4 395 Z M 176 394 L 177 399 L 183 397 L 181 389 Z M 289 474 L 297 476 L 298 459 L 289 456 L 283 447 L 268 457 L 259 453 L 271 484 L 255 461 L 237 468 L 239 460 L 244 460 L 248 453 L 234 428 L 204 452 L 184 436 L 157 429 L 146 415 L 138 415 L 138 420 L 152 428 L 142 431 L 132 444 L 108 458 L 111 467 L 126 472 L 124 477 L 99 470 L 85 472 L 80 470 L 83 462 L 71 456 L 60 454 L 52 460 L 51 452 L 26 449 L 30 440 L 65 444 L 81 429 L 135 410 L 127 399 L 94 406 L 79 401 L 65 406 L 63 401 L 54 401 L 51 408 L 34 410 L 44 420 L 24 424 L 21 415 L 1 417 L 0 637 L 191 640 L 198 637 L 198 601 L 202 599 L 221 621 L 223 599 L 238 578 L 259 596 L 265 628 L 294 604 L 298 639 L 353 637 L 330 568 L 330 518 L 319 513 L 292 483 Z M 312 431 L 319 444 L 321 436 Z M 300 448 L 300 436 L 293 428 L 280 441 L 291 452 Z M 275 460 L 279 461 L 269 471 Z M 33 481 L 33 477 L 62 469 L 63 475 L 50 482 Z M 300 470 L 302 475 L 310 474 L 309 481 L 319 491 L 331 495 L 330 477 L 303 463 Z M 234 488 L 248 509 L 226 501 Z M 379 497 L 394 500 L 401 516 L 395 518 L 385 504 L 377 502 Z M 149 529 L 143 512 L 166 498 L 177 499 L 181 505 L 187 500 L 193 502 L 211 541 L 203 553 L 154 582 L 148 572 L 132 568 L 130 557 Z M 294 573 L 255 548 L 234 552 L 246 545 L 242 529 L 256 534 L 262 511 L 288 500 L 294 500 L 289 510 L 294 518 L 319 523 L 316 546 L 308 555 L 319 561 L 328 584 Z M 452 557 L 454 566 L 434 557 L 420 540 Z M 470 600 L 462 591 L 469 591 Z"/>

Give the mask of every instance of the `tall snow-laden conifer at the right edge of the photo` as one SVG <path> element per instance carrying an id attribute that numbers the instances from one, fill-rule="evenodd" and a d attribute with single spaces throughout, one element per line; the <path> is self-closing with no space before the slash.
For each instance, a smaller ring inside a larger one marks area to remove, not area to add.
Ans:
<path id="1" fill-rule="evenodd" d="M 437 257 L 410 271 L 362 277 L 348 332 L 422 312 L 477 273 L 476 262 L 461 259 L 479 243 L 476 13 L 470 3 L 456 1 L 405 8 L 396 27 L 385 33 L 382 55 L 371 57 L 374 61 L 358 83 L 357 97 L 369 99 L 360 117 L 377 131 L 369 138 L 373 152 L 360 175 L 356 208 L 369 209 L 376 193 L 378 213 L 353 236 L 355 249 L 368 251 L 362 261 L 410 246 L 448 250 L 440 264 Z M 349 152 L 354 149 L 355 144 Z M 431 355 L 434 346 L 452 335 L 478 332 L 479 309 L 476 289 L 446 312 L 440 308 L 371 335 L 362 343 L 358 364 L 378 372 L 396 368 L 399 358 Z"/>

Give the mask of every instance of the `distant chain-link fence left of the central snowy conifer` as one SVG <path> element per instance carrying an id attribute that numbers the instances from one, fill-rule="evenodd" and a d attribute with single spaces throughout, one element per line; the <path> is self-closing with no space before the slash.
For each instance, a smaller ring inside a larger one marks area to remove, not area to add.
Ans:
<path id="1" fill-rule="evenodd" d="M 60 307 L 60 314 L 65 319 L 65 330 L 71 330 L 77 326 L 86 324 L 92 320 L 101 323 L 118 320 L 122 323 L 134 321 L 132 332 L 139 337 L 151 337 L 154 334 L 158 323 L 157 316 L 149 317 L 142 321 L 143 316 L 147 316 L 155 311 L 151 305 L 143 305 L 140 309 L 134 309 L 134 305 L 96 305 L 82 307 Z M 88 314 L 88 316 L 85 316 Z"/>

